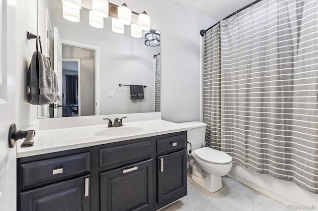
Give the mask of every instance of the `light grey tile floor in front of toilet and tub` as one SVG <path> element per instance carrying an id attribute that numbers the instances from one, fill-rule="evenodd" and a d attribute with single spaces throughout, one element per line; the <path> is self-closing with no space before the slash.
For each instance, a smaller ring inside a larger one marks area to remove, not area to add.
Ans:
<path id="1" fill-rule="evenodd" d="M 285 204 L 231 177 L 222 182 L 221 190 L 210 193 L 188 174 L 188 195 L 159 211 L 286 211 Z"/>

